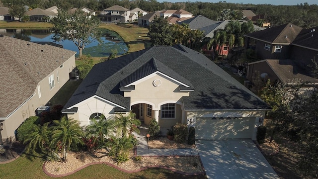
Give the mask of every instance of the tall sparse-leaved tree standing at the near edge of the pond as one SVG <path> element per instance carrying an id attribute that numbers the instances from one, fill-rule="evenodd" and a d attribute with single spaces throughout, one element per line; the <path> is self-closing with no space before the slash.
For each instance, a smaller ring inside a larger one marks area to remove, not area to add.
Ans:
<path id="1" fill-rule="evenodd" d="M 52 19 L 53 24 L 53 39 L 71 40 L 79 49 L 79 57 L 82 56 L 82 50 L 86 45 L 93 40 L 101 43 L 101 32 L 98 29 L 100 20 L 91 16 L 88 17 L 82 10 L 77 10 L 75 13 L 68 13 L 68 11 L 60 9 L 58 16 Z"/>

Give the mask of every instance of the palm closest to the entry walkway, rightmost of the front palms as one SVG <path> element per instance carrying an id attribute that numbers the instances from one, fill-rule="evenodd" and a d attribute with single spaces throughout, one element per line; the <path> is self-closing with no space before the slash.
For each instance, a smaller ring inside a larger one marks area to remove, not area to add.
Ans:
<path id="1" fill-rule="evenodd" d="M 138 125 L 141 124 L 140 120 L 136 119 L 136 114 L 129 112 L 126 116 L 119 114 L 116 116 L 114 126 L 117 128 L 117 134 L 122 133 L 122 137 L 127 137 L 132 132 L 140 133 Z"/>

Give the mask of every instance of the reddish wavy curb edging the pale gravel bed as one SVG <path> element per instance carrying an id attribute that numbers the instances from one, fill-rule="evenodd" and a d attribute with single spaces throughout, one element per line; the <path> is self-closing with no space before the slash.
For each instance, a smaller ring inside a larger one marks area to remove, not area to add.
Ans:
<path id="1" fill-rule="evenodd" d="M 143 157 L 144 157 L 144 156 L 143 156 Z M 149 157 L 162 157 L 162 156 L 149 156 Z M 176 156 L 176 157 L 184 157 L 184 156 Z M 140 168 L 140 169 L 137 169 L 137 170 L 134 170 L 134 171 L 128 171 L 128 170 L 124 170 L 124 169 L 122 169 L 122 168 L 119 168 L 119 167 L 117 167 L 116 165 L 113 165 L 113 164 L 111 164 L 111 163 L 109 163 L 109 162 L 93 162 L 93 163 L 90 163 L 90 164 L 86 164 L 86 165 L 84 165 L 84 166 L 78 168 L 77 170 L 75 170 L 75 171 L 73 171 L 73 172 L 70 172 L 70 173 L 67 173 L 67 174 L 61 174 L 61 175 L 54 175 L 54 174 L 51 174 L 51 173 L 49 173 L 48 171 L 46 171 L 46 169 L 45 169 L 45 164 L 46 164 L 46 163 L 47 163 L 47 161 L 44 162 L 44 164 L 43 164 L 43 166 L 42 166 L 43 172 L 44 172 L 47 176 L 55 177 L 55 178 L 65 177 L 65 176 L 72 175 L 72 174 L 74 174 L 74 173 L 76 173 L 76 172 L 79 172 L 80 170 L 82 170 L 82 169 L 84 169 L 84 168 L 86 168 L 86 167 L 88 167 L 88 166 L 96 165 L 96 164 L 105 164 L 105 165 L 108 165 L 108 166 L 110 166 L 110 167 L 112 167 L 112 168 L 114 168 L 114 169 L 117 169 L 117 170 L 121 171 L 121 172 L 129 173 L 129 174 L 131 174 L 131 173 L 136 173 L 136 172 L 140 172 L 140 171 L 143 171 L 143 170 L 146 170 L 146 169 L 151 169 L 151 168 L 160 168 L 160 169 L 170 170 L 170 171 L 172 171 L 172 172 L 174 172 L 174 173 L 181 174 L 181 175 L 186 175 L 186 176 L 206 175 L 204 170 L 203 170 L 204 172 L 185 173 L 185 172 L 176 171 L 176 170 L 174 170 L 174 169 L 172 169 L 172 168 L 168 168 L 168 167 L 164 167 L 164 166 L 159 166 L 159 165 L 149 166 L 149 167 L 143 167 L 143 168 Z M 202 168 L 203 168 L 201 159 L 200 159 L 200 163 L 201 163 L 201 166 L 202 166 Z"/>

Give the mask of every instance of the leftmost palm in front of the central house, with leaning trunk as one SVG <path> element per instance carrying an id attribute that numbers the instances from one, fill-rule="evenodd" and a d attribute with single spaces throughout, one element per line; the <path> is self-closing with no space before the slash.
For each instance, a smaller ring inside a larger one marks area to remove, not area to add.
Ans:
<path id="1" fill-rule="evenodd" d="M 33 125 L 31 128 L 32 133 L 27 135 L 26 139 L 24 140 L 23 144 L 26 144 L 25 152 L 26 153 L 33 153 L 36 148 L 39 148 L 41 152 L 48 154 L 49 152 L 52 153 L 56 158 L 61 161 L 61 158 L 58 154 L 56 154 L 50 147 L 50 133 L 51 130 L 48 127 L 49 122 L 43 124 L 41 126 Z"/>

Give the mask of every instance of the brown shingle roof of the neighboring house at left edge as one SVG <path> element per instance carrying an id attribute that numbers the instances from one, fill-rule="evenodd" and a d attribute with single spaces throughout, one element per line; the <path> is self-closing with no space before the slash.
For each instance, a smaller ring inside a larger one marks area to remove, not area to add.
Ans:
<path id="1" fill-rule="evenodd" d="M 34 93 L 40 81 L 75 54 L 51 45 L 0 36 L 0 117 L 7 117 Z"/>

